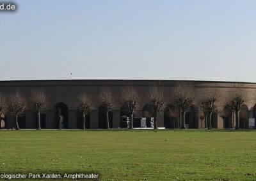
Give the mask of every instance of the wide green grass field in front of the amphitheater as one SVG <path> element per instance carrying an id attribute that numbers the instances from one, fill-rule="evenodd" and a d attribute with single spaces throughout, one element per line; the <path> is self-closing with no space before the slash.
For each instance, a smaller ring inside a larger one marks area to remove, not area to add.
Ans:
<path id="1" fill-rule="evenodd" d="M 0 131 L 2 172 L 100 180 L 256 180 L 256 131 Z"/>

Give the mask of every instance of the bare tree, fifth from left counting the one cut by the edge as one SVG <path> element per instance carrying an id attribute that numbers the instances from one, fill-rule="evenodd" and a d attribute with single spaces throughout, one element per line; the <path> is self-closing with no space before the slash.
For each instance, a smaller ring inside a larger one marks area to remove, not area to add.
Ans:
<path id="1" fill-rule="evenodd" d="M 106 120 L 107 120 L 107 127 L 109 129 L 109 111 L 113 110 L 115 108 L 115 96 L 111 89 L 106 87 L 105 89 L 102 89 L 100 92 L 100 101 L 102 103 L 102 106 L 104 107 L 104 110 L 106 112 Z"/>

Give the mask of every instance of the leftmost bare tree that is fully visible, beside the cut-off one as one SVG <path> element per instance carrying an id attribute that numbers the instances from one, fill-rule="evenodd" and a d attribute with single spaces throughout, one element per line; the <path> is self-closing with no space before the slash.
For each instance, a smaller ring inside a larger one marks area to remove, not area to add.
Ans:
<path id="1" fill-rule="evenodd" d="M 17 129 L 20 129 L 18 123 L 18 117 L 22 117 L 26 112 L 27 103 L 26 99 L 19 91 L 16 91 L 10 95 L 10 112 L 15 116 Z"/>

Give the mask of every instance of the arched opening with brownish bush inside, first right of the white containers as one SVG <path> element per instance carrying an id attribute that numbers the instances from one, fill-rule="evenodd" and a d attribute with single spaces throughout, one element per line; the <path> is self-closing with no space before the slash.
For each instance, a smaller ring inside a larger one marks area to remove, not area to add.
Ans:
<path id="1" fill-rule="evenodd" d="M 175 128 L 179 113 L 177 112 L 176 106 L 169 104 L 164 108 L 164 127 Z"/>

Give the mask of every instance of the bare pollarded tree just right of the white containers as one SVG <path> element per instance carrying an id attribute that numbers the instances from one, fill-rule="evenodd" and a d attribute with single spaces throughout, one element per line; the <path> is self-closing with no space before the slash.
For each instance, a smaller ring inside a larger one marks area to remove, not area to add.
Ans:
<path id="1" fill-rule="evenodd" d="M 157 115 L 164 110 L 164 94 L 161 87 L 152 86 L 149 91 L 149 98 L 151 102 L 150 113 L 154 117 L 154 129 L 157 129 Z"/>

